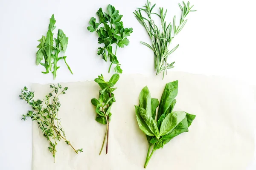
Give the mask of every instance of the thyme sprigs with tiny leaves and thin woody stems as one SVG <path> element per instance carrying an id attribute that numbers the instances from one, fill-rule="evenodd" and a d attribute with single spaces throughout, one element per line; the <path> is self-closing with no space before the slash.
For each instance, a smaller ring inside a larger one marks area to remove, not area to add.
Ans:
<path id="1" fill-rule="evenodd" d="M 59 108 L 61 106 L 58 96 L 60 94 L 66 94 L 67 87 L 61 91 L 61 85 L 58 84 L 50 85 L 52 91 L 45 96 L 44 104 L 43 101 L 38 99 L 34 100 L 34 92 L 28 91 L 26 86 L 21 90 L 20 99 L 25 100 L 27 104 L 31 105 L 32 111 L 28 111 L 25 115 L 23 114 L 23 120 L 26 117 L 30 117 L 32 120 L 37 121 L 38 127 L 42 130 L 44 137 L 49 141 L 50 146 L 48 147 L 55 162 L 56 146 L 57 142 L 61 139 L 67 145 L 70 145 L 73 150 L 78 152 L 83 152 L 83 149 L 75 149 L 70 141 L 67 140 L 64 129 L 61 125 L 60 118 L 58 118 Z"/>

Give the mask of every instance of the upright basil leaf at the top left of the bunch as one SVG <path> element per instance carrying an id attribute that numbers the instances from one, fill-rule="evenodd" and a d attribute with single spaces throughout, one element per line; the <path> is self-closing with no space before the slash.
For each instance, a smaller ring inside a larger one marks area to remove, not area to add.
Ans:
<path id="1" fill-rule="evenodd" d="M 140 99 L 140 107 L 146 110 L 146 113 L 148 114 L 148 116 L 152 116 L 151 95 L 147 86 L 145 86 L 141 90 L 139 99 Z"/>

